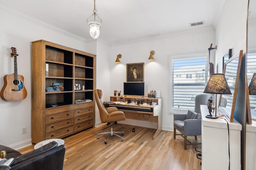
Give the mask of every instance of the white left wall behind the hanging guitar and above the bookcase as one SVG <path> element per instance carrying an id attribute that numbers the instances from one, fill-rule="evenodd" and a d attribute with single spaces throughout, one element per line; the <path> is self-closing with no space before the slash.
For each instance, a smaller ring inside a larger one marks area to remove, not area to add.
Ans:
<path id="1" fill-rule="evenodd" d="M 33 23 L 31 19 L 28 21 L 18 16 L 19 14 L 0 6 L 0 88 L 4 84 L 4 75 L 14 72 L 14 60 L 9 57 L 9 49 L 16 47 L 19 55 L 18 74 L 24 76 L 24 86 L 28 92 L 28 96 L 22 101 L 6 102 L 0 99 L 0 144 L 13 148 L 31 144 L 31 41 L 45 39 L 78 50 L 85 49 L 85 43 L 76 38 L 38 25 L 44 23 Z M 24 134 L 22 127 L 27 130 Z"/>

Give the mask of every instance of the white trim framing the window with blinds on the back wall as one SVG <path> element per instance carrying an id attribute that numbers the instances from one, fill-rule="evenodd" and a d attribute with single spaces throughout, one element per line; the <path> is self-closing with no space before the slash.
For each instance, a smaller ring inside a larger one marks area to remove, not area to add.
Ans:
<path id="1" fill-rule="evenodd" d="M 192 54 L 186 54 L 186 55 L 169 55 L 169 96 L 168 96 L 168 114 L 173 113 L 187 113 L 188 109 L 171 109 L 170 103 L 172 102 L 172 59 L 189 59 L 189 58 L 197 58 L 197 57 L 206 57 L 206 63 L 209 63 L 209 56 L 207 52 L 199 52 L 199 53 L 192 53 Z M 209 64 L 206 64 L 206 69 L 208 70 Z"/>

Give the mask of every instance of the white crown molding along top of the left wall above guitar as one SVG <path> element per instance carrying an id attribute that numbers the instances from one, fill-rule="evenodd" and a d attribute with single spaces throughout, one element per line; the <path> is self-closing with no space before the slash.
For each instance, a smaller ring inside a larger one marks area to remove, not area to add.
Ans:
<path id="1" fill-rule="evenodd" d="M 52 31 L 56 31 L 56 32 L 61 33 L 63 35 L 66 35 L 68 37 L 74 38 L 74 39 L 76 39 L 78 41 L 82 41 L 82 42 L 86 43 L 86 39 L 84 37 L 80 37 L 80 36 L 78 36 L 78 35 L 76 35 L 74 33 L 70 33 L 70 32 L 68 32 L 68 31 L 66 31 L 64 29 L 61 29 L 59 27 L 50 25 L 50 24 L 48 24 L 48 23 L 46 23 L 44 21 L 36 20 L 35 18 L 32 18 L 32 17 L 27 16 L 25 14 L 22 14 L 20 12 L 11 10 L 11 9 L 6 8 L 4 6 L 0 6 L 0 11 L 5 12 L 6 14 L 10 14 L 12 16 L 21 18 L 22 20 L 26 20 L 26 21 L 32 22 L 32 23 L 34 23 L 36 25 L 40 25 L 40 26 L 45 27 L 47 29 L 50 29 Z"/>

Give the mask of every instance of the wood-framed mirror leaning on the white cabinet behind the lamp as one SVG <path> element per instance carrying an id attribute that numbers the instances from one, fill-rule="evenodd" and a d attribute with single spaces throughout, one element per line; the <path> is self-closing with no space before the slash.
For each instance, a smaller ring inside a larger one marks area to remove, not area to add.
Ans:
<path id="1" fill-rule="evenodd" d="M 240 50 L 239 53 L 236 53 L 224 64 L 223 73 L 225 74 L 228 86 L 231 91 L 231 95 L 222 94 L 220 95 L 219 107 L 224 112 L 224 114 L 230 119 L 230 122 L 233 122 L 234 111 L 236 105 L 236 94 L 238 89 L 238 79 L 241 69 L 243 50 Z M 221 100 L 225 98 L 227 100 L 226 107 L 221 106 Z"/>

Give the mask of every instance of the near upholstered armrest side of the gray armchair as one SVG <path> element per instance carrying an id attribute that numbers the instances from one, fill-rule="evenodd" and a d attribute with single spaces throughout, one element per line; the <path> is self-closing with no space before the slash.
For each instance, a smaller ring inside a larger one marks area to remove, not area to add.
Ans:
<path id="1" fill-rule="evenodd" d="M 201 119 L 186 119 L 184 121 L 184 131 L 186 136 L 201 135 Z"/>

